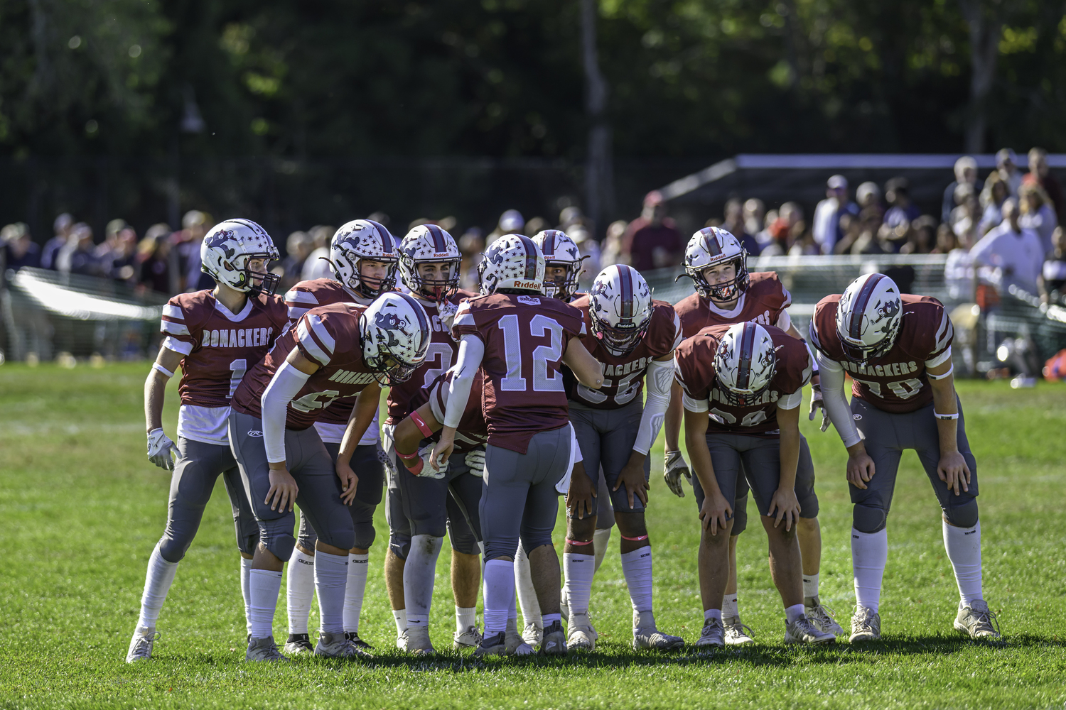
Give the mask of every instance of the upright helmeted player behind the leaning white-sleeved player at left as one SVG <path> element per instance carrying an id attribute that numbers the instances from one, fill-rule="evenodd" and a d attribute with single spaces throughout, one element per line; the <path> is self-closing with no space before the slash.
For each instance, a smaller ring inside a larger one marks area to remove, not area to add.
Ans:
<path id="1" fill-rule="evenodd" d="M 333 279 L 301 281 L 285 295 L 289 308 L 289 324 L 295 328 L 305 313 L 319 306 L 357 303 L 370 306 L 379 294 L 395 287 L 395 269 L 400 257 L 392 235 L 382 225 L 370 219 L 355 219 L 343 225 L 329 244 Z M 354 400 L 338 399 L 326 407 L 314 430 L 336 461 L 344 429 L 352 416 Z M 352 455 L 354 469 L 359 472 L 359 485 L 349 511 L 355 525 L 355 546 L 349 550 L 348 582 L 344 585 L 344 634 L 360 648 L 371 646 L 359 638 L 359 615 L 367 589 L 370 546 L 374 543 L 374 510 L 382 501 L 385 466 L 379 460 L 378 425 L 375 416 Z M 382 457 L 384 458 L 384 457 Z M 284 654 L 312 653 L 313 644 L 307 630 L 307 617 L 314 594 L 314 544 L 318 535 L 300 515 L 300 533 L 289 559 L 286 579 L 286 601 L 289 611 L 289 638 Z"/>

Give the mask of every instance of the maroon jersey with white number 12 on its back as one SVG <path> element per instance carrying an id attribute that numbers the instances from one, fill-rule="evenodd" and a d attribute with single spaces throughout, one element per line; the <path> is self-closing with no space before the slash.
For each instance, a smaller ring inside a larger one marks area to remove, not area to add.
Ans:
<path id="1" fill-rule="evenodd" d="M 533 434 L 569 423 L 561 362 L 570 339 L 585 334 L 581 311 L 547 296 L 478 296 L 459 306 L 452 330 L 485 344 L 489 444 L 526 453 Z"/>

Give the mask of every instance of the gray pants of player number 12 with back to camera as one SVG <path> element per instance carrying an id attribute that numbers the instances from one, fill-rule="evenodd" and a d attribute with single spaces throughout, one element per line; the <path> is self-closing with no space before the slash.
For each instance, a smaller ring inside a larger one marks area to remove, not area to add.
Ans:
<path id="1" fill-rule="evenodd" d="M 481 535 L 485 560 L 515 557 L 518 540 L 532 552 L 551 544 L 559 512 L 555 484 L 570 463 L 570 428 L 542 431 L 526 453 L 489 444 L 481 492 Z"/>

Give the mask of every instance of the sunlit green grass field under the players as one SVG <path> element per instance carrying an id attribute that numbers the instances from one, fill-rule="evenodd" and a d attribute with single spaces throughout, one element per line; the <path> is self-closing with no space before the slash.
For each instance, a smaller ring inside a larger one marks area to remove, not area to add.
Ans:
<path id="1" fill-rule="evenodd" d="M 740 605 L 759 644 L 667 655 L 629 646 L 629 599 L 612 540 L 593 588 L 597 651 L 565 659 L 475 662 L 446 653 L 413 662 L 390 651 L 382 577 L 384 513 L 371 554 L 360 631 L 372 665 L 244 662 L 244 621 L 229 508 L 221 482 L 160 617 L 155 659 L 124 662 L 145 563 L 166 514 L 168 477 L 144 456 L 145 364 L 74 370 L 0 367 L 0 708 L 226 707 L 758 707 L 1062 708 L 1066 701 L 1066 389 L 962 382 L 981 477 L 985 594 L 1004 641 L 974 644 L 951 628 L 957 592 L 935 497 L 904 457 L 889 524 L 884 642 L 788 648 L 766 567 L 765 538 L 742 535 Z M 166 429 L 176 419 L 176 383 Z M 803 419 L 819 475 L 823 600 L 846 625 L 854 604 L 836 433 Z M 702 614 L 692 496 L 653 461 L 649 528 L 660 627 L 692 642 Z M 560 517 L 562 522 L 562 516 Z M 562 524 L 556 528 L 561 544 Z M 431 620 L 450 648 L 452 599 L 441 555 Z M 282 591 L 284 599 L 284 591 Z M 479 615 L 480 618 L 480 615 Z M 313 622 L 314 620 L 312 620 Z M 275 633 L 285 634 L 284 600 Z"/>

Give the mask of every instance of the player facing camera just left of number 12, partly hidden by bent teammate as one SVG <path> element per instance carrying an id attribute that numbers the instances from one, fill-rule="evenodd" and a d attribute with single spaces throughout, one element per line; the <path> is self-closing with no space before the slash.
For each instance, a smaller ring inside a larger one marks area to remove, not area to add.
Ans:
<path id="1" fill-rule="evenodd" d="M 389 390 L 386 442 L 393 440 L 395 427 L 425 401 L 434 380 L 452 366 L 458 346 L 448 332 L 451 318 L 461 299 L 475 295 L 458 288 L 463 258 L 455 240 L 440 227 L 421 225 L 410 230 L 400 245 L 400 254 L 403 284 L 429 315 L 431 342 L 425 362 L 409 380 Z M 450 485 L 453 492 L 481 495 L 480 481 L 462 476 L 462 458 L 452 462 L 448 480 L 410 476 L 404 468 L 389 478 L 391 559 L 386 563 L 385 579 L 397 622 L 397 646 L 414 654 L 435 653 L 430 642 L 430 600 L 446 530 L 452 541 L 456 622 L 453 646 L 473 647 L 481 642 L 474 615 L 481 580 L 480 538 L 470 530 L 465 515 L 454 514 L 454 509 L 448 515 L 448 508 L 454 505 L 449 503 Z M 463 499 L 464 506 L 477 502 L 477 497 Z"/>

